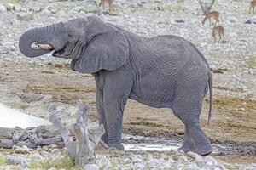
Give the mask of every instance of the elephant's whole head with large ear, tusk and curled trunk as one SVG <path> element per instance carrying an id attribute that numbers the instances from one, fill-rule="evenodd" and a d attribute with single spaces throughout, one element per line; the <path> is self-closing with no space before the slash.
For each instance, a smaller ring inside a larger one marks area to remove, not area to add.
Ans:
<path id="1" fill-rule="evenodd" d="M 32 48 L 33 42 L 39 48 Z M 27 57 L 54 50 L 54 57 L 73 59 L 72 69 L 82 73 L 118 69 L 125 65 L 129 54 L 124 33 L 93 16 L 26 31 L 19 47 Z"/>

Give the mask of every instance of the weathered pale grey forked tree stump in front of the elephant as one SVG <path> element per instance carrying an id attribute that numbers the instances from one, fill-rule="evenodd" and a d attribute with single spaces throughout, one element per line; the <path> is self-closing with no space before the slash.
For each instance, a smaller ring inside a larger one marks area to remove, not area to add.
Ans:
<path id="1" fill-rule="evenodd" d="M 49 106 L 49 122 L 52 122 L 60 131 L 67 151 L 79 167 L 96 163 L 96 145 L 100 142 L 103 133 L 105 133 L 103 125 L 94 132 L 90 131 L 87 127 L 89 115 L 89 108 L 79 100 L 76 122 L 73 124 L 74 140 L 65 123 L 61 122 L 61 118 L 57 116 L 55 105 Z"/>

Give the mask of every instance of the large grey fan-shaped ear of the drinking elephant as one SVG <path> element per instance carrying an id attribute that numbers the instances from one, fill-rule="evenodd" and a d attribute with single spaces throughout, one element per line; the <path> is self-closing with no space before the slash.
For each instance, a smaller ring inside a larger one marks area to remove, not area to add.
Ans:
<path id="1" fill-rule="evenodd" d="M 88 17 L 85 32 L 87 42 L 79 59 L 72 62 L 74 71 L 113 71 L 125 65 L 129 47 L 122 31 L 96 17 Z"/>

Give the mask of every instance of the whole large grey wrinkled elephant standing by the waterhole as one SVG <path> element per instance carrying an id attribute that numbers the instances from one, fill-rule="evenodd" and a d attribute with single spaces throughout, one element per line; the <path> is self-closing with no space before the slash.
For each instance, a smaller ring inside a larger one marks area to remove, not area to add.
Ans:
<path id="1" fill-rule="evenodd" d="M 95 77 L 99 122 L 106 129 L 102 139 L 109 146 L 124 150 L 123 111 L 127 99 L 135 99 L 172 109 L 185 125 L 179 150 L 212 152 L 199 122 L 208 87 L 212 101 L 211 71 L 204 56 L 182 37 L 139 37 L 91 16 L 32 29 L 20 37 L 22 54 L 47 54 L 51 50 L 33 49 L 32 42 L 50 44 L 54 57 L 72 59 L 73 71 Z"/>

